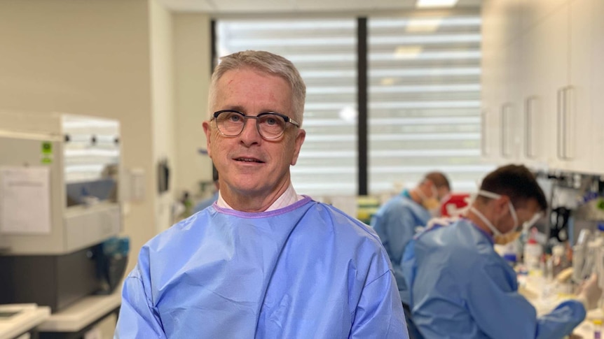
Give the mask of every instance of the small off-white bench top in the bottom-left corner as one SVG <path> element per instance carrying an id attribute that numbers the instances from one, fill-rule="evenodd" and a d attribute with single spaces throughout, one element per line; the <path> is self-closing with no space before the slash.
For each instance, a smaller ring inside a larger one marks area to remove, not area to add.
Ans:
<path id="1" fill-rule="evenodd" d="M 0 305 L 0 339 L 13 339 L 29 333 L 38 338 L 38 327 L 50 317 L 48 306 L 34 303 Z"/>

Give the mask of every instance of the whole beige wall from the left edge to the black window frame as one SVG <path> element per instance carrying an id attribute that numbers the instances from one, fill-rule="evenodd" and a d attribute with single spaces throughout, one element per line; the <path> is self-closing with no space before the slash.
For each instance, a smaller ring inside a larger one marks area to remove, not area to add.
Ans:
<path id="1" fill-rule="evenodd" d="M 175 196 L 212 178 L 210 159 L 198 153 L 210 16 L 170 13 L 156 0 L 3 0 L 0 51 L 0 109 L 121 122 L 123 165 L 145 175 L 145 199 L 125 208 L 130 271 L 140 247 L 171 224 Z M 163 157 L 172 190 L 158 196 Z"/>

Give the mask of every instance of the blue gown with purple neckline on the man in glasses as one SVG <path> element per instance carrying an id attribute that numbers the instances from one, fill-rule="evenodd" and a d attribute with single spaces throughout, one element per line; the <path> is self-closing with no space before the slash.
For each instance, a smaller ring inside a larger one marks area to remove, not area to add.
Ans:
<path id="1" fill-rule="evenodd" d="M 179 222 L 142 247 L 122 296 L 115 338 L 408 338 L 376 234 L 308 197 Z"/>

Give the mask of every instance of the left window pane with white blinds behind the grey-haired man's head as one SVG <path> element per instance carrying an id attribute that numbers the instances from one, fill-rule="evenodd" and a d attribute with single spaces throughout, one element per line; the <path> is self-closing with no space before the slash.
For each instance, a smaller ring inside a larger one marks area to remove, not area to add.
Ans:
<path id="1" fill-rule="evenodd" d="M 357 194 L 357 21 L 219 20 L 218 56 L 267 50 L 291 60 L 306 82 L 306 140 L 291 180 L 298 194 Z"/>

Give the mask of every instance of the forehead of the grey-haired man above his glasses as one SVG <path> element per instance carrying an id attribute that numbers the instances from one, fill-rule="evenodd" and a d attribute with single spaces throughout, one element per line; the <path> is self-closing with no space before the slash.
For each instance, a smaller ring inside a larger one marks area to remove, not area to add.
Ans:
<path id="1" fill-rule="evenodd" d="M 287 111 L 291 108 L 291 88 L 278 75 L 254 68 L 226 71 L 216 85 L 216 108 Z M 247 112 L 246 112 L 247 113 Z"/>

